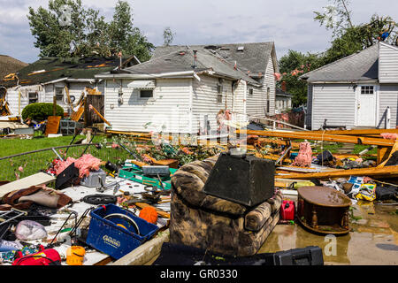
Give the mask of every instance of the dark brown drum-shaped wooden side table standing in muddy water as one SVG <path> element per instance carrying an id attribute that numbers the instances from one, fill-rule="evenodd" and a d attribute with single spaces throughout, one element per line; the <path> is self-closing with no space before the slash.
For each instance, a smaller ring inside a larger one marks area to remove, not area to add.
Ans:
<path id="1" fill-rule="evenodd" d="M 333 187 L 300 187 L 297 189 L 297 218 L 302 226 L 315 233 L 349 232 L 351 200 Z"/>

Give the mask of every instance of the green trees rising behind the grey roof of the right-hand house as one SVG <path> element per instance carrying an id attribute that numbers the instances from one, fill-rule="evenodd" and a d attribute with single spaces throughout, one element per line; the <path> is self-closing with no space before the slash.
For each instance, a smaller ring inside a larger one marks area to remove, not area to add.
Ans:
<path id="1" fill-rule="evenodd" d="M 294 95 L 294 106 L 306 103 L 307 84 L 299 79 L 303 73 L 313 71 L 323 65 L 333 63 L 343 57 L 348 57 L 357 51 L 364 50 L 379 41 L 397 44 L 397 24 L 389 17 L 374 14 L 368 23 L 355 25 L 351 20 L 348 0 L 329 0 L 333 4 L 324 7 L 324 12 L 314 11 L 314 20 L 321 26 L 333 30 L 329 49 L 320 54 L 303 54 L 289 50 L 287 55 L 279 60 L 282 82 L 287 86 L 287 92 Z"/>

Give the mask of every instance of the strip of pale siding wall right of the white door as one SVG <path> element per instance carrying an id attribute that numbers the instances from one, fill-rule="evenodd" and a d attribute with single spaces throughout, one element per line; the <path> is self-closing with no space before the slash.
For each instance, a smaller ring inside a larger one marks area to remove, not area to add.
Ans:
<path id="1" fill-rule="evenodd" d="M 390 107 L 390 127 L 398 126 L 398 84 L 381 84 L 379 88 L 379 127 L 386 126 L 386 111 Z"/>

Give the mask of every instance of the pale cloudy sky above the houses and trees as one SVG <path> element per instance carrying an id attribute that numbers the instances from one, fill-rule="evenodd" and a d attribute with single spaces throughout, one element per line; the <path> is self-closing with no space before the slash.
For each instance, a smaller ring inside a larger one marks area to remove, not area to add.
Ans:
<path id="1" fill-rule="evenodd" d="M 82 0 L 111 19 L 117 0 Z M 134 25 L 149 42 L 163 43 L 163 30 L 171 27 L 172 44 L 217 44 L 275 42 L 280 58 L 287 50 L 324 51 L 331 32 L 314 21 L 313 11 L 323 11 L 327 0 L 134 0 Z M 0 0 L 0 54 L 32 63 L 39 50 L 27 21 L 28 7 L 48 8 L 47 0 Z M 389 15 L 398 20 L 396 0 L 351 0 L 354 24 L 371 15 Z"/>

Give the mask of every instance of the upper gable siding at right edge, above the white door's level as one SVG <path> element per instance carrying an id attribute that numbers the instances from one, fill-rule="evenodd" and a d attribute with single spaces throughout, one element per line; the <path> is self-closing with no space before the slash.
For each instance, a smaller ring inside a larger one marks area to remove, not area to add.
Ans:
<path id="1" fill-rule="evenodd" d="M 380 43 L 379 82 L 398 82 L 398 48 Z"/>

